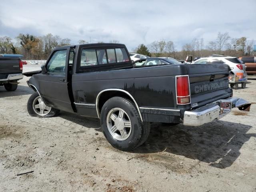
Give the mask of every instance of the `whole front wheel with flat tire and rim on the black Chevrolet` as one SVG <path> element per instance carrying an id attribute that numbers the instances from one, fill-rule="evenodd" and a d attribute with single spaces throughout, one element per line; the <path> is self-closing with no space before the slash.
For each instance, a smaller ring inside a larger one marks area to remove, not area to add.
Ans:
<path id="1" fill-rule="evenodd" d="M 59 114 L 60 110 L 47 106 L 38 92 L 34 92 L 28 99 L 28 113 L 35 117 L 54 117 Z"/>

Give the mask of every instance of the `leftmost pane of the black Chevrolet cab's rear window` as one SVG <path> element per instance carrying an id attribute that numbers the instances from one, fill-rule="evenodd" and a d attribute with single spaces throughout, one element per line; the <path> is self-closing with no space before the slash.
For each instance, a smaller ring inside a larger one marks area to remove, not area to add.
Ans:
<path id="1" fill-rule="evenodd" d="M 95 49 L 83 49 L 81 55 L 80 66 L 91 66 L 97 64 L 97 56 Z"/>

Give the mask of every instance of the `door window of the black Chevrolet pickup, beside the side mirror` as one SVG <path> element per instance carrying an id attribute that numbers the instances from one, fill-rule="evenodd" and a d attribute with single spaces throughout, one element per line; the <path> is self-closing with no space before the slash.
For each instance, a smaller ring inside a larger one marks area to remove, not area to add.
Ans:
<path id="1" fill-rule="evenodd" d="M 67 50 L 54 52 L 46 68 L 47 72 L 54 74 L 65 74 Z"/>

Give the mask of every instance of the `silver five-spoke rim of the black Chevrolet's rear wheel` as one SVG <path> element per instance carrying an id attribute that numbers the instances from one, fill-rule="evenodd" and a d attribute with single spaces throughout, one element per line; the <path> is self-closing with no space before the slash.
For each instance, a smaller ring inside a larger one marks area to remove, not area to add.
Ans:
<path id="1" fill-rule="evenodd" d="M 132 132 L 132 122 L 121 108 L 113 108 L 107 115 L 108 131 L 116 140 L 126 140 Z"/>

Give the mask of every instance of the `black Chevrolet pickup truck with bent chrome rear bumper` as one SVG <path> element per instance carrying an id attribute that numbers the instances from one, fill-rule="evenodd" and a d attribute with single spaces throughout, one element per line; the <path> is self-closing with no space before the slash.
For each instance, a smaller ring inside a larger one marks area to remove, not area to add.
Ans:
<path id="1" fill-rule="evenodd" d="M 200 126 L 250 110 L 232 97 L 226 64 L 182 64 L 145 58 L 132 64 L 124 44 L 56 48 L 28 81 L 31 116 L 53 117 L 60 110 L 100 118 L 112 146 L 129 151 L 143 144 L 150 122 Z"/>

